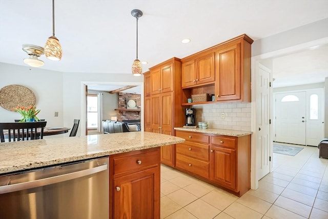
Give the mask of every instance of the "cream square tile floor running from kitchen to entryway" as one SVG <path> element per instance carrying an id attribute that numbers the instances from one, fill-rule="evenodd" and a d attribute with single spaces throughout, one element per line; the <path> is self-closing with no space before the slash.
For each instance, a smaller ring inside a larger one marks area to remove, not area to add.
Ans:
<path id="1" fill-rule="evenodd" d="M 328 159 L 317 147 L 273 154 L 273 172 L 241 197 L 161 166 L 160 218 L 328 218 Z"/>

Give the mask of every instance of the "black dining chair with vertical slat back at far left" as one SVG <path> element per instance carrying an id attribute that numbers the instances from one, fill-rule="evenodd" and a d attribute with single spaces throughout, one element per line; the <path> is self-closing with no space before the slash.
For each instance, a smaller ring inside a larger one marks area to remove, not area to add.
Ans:
<path id="1" fill-rule="evenodd" d="M 9 142 L 43 139 L 46 125 L 47 122 L 0 123 L 0 140 L 5 142 L 5 136 Z"/>

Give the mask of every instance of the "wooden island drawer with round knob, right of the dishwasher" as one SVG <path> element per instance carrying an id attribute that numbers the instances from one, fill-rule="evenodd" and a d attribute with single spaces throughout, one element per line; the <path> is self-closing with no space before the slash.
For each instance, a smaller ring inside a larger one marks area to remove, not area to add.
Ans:
<path id="1" fill-rule="evenodd" d="M 159 166 L 160 150 L 113 158 L 113 175 L 134 173 Z"/>

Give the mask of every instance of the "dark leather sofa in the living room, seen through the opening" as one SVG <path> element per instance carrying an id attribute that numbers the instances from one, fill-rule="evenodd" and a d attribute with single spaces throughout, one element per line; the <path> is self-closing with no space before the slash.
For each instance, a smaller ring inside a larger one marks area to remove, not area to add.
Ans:
<path id="1" fill-rule="evenodd" d="M 140 128 L 137 125 L 129 125 L 126 122 L 118 122 L 113 120 L 103 121 L 103 127 L 104 127 L 104 134 L 140 131 Z"/>

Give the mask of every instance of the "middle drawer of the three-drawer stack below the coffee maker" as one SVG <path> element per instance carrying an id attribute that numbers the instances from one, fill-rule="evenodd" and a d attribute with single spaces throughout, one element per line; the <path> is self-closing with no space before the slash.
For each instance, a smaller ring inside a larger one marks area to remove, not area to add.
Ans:
<path id="1" fill-rule="evenodd" d="M 209 146 L 194 142 L 177 144 L 176 153 L 191 156 L 199 160 L 209 161 Z"/>

